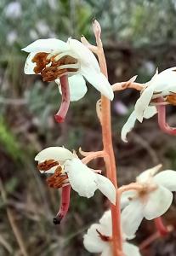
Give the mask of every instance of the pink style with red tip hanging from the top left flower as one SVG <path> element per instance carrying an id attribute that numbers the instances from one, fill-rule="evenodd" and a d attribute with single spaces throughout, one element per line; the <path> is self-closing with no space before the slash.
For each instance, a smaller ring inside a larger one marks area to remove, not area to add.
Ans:
<path id="1" fill-rule="evenodd" d="M 62 91 L 62 102 L 60 105 L 60 109 L 58 113 L 54 115 L 54 118 L 56 122 L 63 123 L 70 106 L 70 90 L 67 75 L 63 75 L 60 77 L 60 86 Z"/>

